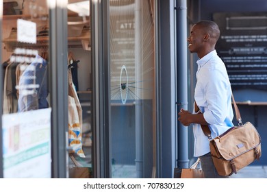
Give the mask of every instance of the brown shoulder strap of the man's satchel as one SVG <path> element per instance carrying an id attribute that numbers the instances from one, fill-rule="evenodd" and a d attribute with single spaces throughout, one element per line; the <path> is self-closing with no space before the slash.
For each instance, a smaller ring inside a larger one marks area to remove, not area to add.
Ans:
<path id="1" fill-rule="evenodd" d="M 242 125 L 242 119 L 241 119 L 240 111 L 239 111 L 238 105 L 236 104 L 235 98 L 233 97 L 233 94 L 232 94 L 232 100 L 233 100 L 233 106 L 234 106 L 235 112 L 236 112 L 236 120 L 238 121 L 238 125 Z M 197 106 L 196 101 L 194 101 L 194 112 L 201 113 L 201 110 L 199 110 L 199 106 Z M 207 136 L 207 138 L 209 140 L 211 140 L 212 139 L 212 136 L 211 136 L 212 133 L 209 130 L 209 126 L 208 125 L 201 125 L 201 129 L 202 129 L 203 133 L 205 134 L 205 136 Z"/>

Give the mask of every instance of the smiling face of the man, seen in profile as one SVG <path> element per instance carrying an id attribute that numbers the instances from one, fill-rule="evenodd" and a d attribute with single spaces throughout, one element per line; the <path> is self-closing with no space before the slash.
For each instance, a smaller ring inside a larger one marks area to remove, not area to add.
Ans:
<path id="1" fill-rule="evenodd" d="M 194 25 L 188 37 L 188 49 L 191 53 L 201 53 L 203 49 L 203 31 L 198 25 Z"/>

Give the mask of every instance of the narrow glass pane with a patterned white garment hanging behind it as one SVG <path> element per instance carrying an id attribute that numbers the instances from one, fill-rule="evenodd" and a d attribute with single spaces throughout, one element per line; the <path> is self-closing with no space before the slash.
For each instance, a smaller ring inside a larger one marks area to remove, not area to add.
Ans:
<path id="1" fill-rule="evenodd" d="M 92 64 L 90 1 L 68 1 L 68 141 L 70 178 L 73 167 L 87 167 L 92 176 Z M 81 168 L 83 169 L 83 168 Z"/>

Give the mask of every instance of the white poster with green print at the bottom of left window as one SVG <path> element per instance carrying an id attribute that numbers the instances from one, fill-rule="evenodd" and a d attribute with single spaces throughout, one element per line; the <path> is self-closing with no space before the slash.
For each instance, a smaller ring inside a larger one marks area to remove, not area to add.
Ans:
<path id="1" fill-rule="evenodd" d="M 3 177 L 51 178 L 51 108 L 3 115 Z"/>

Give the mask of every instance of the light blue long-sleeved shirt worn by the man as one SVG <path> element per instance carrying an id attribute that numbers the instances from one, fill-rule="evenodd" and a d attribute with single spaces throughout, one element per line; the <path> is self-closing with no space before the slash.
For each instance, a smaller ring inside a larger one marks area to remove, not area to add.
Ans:
<path id="1" fill-rule="evenodd" d="M 194 99 L 209 123 L 212 138 L 223 134 L 233 127 L 233 108 L 231 105 L 231 84 L 224 62 L 211 51 L 197 62 L 196 87 Z M 201 125 L 193 124 L 194 156 L 203 156 L 210 152 L 209 140 Z"/>

